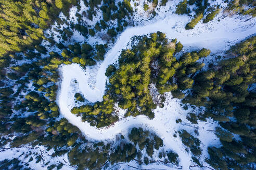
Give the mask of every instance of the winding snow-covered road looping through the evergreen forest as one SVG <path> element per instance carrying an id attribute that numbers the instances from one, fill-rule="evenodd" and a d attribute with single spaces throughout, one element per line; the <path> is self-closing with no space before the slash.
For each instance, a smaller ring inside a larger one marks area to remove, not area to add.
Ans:
<path id="1" fill-rule="evenodd" d="M 229 45 L 234 45 L 236 42 L 256 33 L 256 19 L 249 21 L 235 19 L 235 17 L 226 17 L 220 22 L 214 20 L 209 24 L 198 24 L 194 30 L 187 31 L 184 29 L 188 22 L 188 17 L 172 15 L 164 20 L 157 22 L 148 22 L 144 26 L 131 27 L 126 29 L 119 37 L 116 44 L 105 55 L 105 60 L 97 65 L 97 69 L 91 67 L 83 70 L 78 64 L 62 65 L 60 73 L 62 81 L 58 92 L 57 103 L 60 108 L 61 115 L 68 119 L 70 123 L 79 127 L 79 129 L 89 138 L 96 140 L 113 139 L 118 133 L 125 133 L 127 128 L 136 124 L 143 124 L 148 128 L 152 128 L 164 140 L 164 145 L 167 148 L 174 150 L 180 158 L 180 165 L 183 169 L 189 169 L 190 155 L 187 153 L 181 143 L 181 140 L 174 138 L 175 131 L 180 129 L 180 125 L 175 123 L 177 118 L 183 118 L 186 121 L 186 113 L 178 104 L 179 101 L 171 98 L 165 104 L 164 108 L 155 110 L 155 118 L 148 120 L 145 116 L 136 118 L 128 117 L 121 119 L 119 122 L 110 126 L 108 129 L 96 129 L 87 122 L 82 122 L 80 117 L 71 114 L 70 110 L 75 105 L 74 103 L 74 87 L 71 87 L 71 81 L 76 79 L 78 87 L 75 91 L 81 92 L 89 102 L 101 101 L 104 95 L 106 76 L 105 71 L 109 64 L 115 62 L 121 53 L 121 50 L 126 48 L 131 37 L 135 35 L 144 35 L 157 31 L 166 33 L 167 37 L 177 38 L 184 45 L 185 49 L 189 48 L 207 48 L 213 53 L 227 50 Z M 97 73 L 94 73 L 97 70 Z M 95 84 L 90 87 L 88 75 L 95 76 Z M 183 111 L 183 112 L 181 112 Z M 205 123 L 205 122 L 204 122 Z M 199 139 L 205 147 L 209 143 L 213 143 L 214 134 L 207 132 L 213 129 L 212 122 L 206 124 L 199 123 Z M 204 127 L 204 128 L 201 128 Z M 204 148 L 206 149 L 206 148 Z"/>

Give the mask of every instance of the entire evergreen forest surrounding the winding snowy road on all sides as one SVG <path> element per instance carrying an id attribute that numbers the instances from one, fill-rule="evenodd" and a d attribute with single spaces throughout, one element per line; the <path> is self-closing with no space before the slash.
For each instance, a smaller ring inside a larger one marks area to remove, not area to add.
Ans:
<path id="1" fill-rule="evenodd" d="M 163 139 L 146 127 L 131 127 L 127 134 L 118 134 L 113 141 L 104 143 L 87 138 L 78 127 L 60 116 L 56 103 L 61 80 L 59 67 L 72 63 L 83 68 L 97 65 L 110 50 L 109 44 L 114 43 L 126 27 L 135 26 L 135 11 L 129 0 L 118 3 L 114 0 L 82 1 L 88 10 L 82 14 L 77 12 L 78 22 L 74 23 L 58 16 L 62 13 L 69 18 L 73 6 L 81 8 L 78 0 L 0 0 L 0 148 L 44 146 L 54 150 L 50 155 L 53 158 L 67 153 L 70 164 L 78 169 L 99 169 L 131 161 L 139 165 L 150 164 L 156 155 L 165 164 L 181 168 L 178 154 L 166 149 Z M 150 10 L 148 3 L 153 3 L 152 14 L 156 15 L 155 10 L 167 2 L 148 1 L 143 10 Z M 222 9 L 210 7 L 208 1 L 184 0 L 177 4 L 175 13 L 193 18 L 186 24 L 186 30 L 194 29 L 199 22 L 207 24 L 217 19 L 222 10 L 251 17 L 256 15 L 252 0 L 227 3 L 227 8 Z M 244 5 L 248 8 L 243 8 Z M 193 11 L 190 11 L 191 6 L 195 6 Z M 83 21 L 83 17 L 95 20 L 98 11 L 102 18 L 96 24 Z M 116 24 L 112 24 L 114 22 Z M 58 31 L 58 42 L 53 35 L 46 34 L 55 24 L 56 28 L 66 25 Z M 70 43 L 74 31 L 85 37 L 82 43 Z M 104 41 L 97 44 L 87 41 L 101 31 L 106 32 Z M 186 119 L 192 124 L 208 119 L 218 123 L 214 133 L 221 145 L 208 147 L 209 157 L 205 161 L 210 166 L 214 169 L 254 169 L 256 36 L 232 46 L 219 56 L 222 60 L 207 67 L 203 59 L 210 55 L 209 49 L 184 51 L 178 39 L 168 39 L 161 32 L 139 36 L 137 41 L 121 52 L 117 63 L 108 66 L 103 101 L 86 103 L 83 94 L 74 93 L 79 106 L 71 109 L 72 114 L 97 128 L 107 127 L 119 120 L 114 107 L 118 104 L 126 110 L 125 117 L 144 115 L 153 119 L 153 110 L 164 107 L 165 96 L 171 93 L 183 106 L 203 108 L 199 114 L 187 114 Z M 153 87 L 158 94 L 152 92 Z M 159 95 L 160 100 L 154 100 L 154 95 Z M 182 123 L 181 119 L 176 123 Z M 202 166 L 199 161 L 202 142 L 197 136 L 178 129 L 173 137 L 180 138 L 193 162 Z M 42 160 L 37 153 L 29 153 L 26 157 L 30 162 Z M 0 162 L 0 169 L 29 169 L 27 166 L 28 163 L 22 163 L 19 158 Z M 46 166 L 47 169 L 61 169 L 63 164 Z"/>

